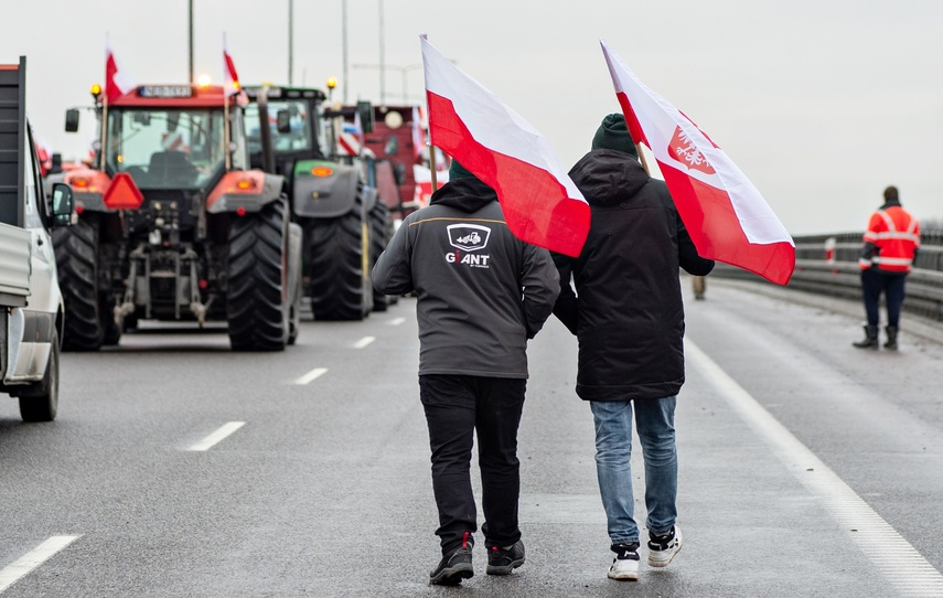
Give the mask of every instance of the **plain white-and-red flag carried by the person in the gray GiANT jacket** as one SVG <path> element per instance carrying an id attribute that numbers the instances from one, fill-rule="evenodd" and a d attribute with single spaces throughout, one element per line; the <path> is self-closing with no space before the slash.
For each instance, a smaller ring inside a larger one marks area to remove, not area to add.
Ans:
<path id="1" fill-rule="evenodd" d="M 432 143 L 497 192 L 517 238 L 579 256 L 589 233 L 589 204 L 547 141 L 425 36 L 420 40 Z"/>

